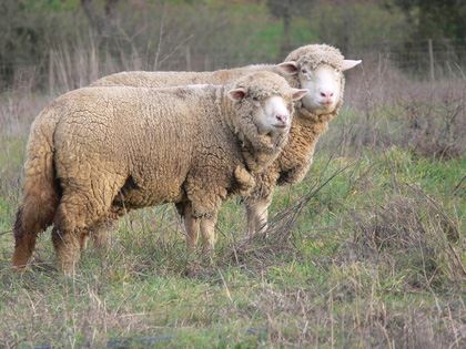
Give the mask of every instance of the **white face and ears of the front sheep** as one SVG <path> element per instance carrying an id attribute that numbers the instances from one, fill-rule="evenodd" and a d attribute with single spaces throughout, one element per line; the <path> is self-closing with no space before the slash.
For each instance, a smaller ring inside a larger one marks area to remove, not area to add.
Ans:
<path id="1" fill-rule="evenodd" d="M 257 96 L 244 89 L 229 92 L 235 102 L 247 103 L 252 106 L 252 119 L 260 134 L 285 133 L 290 130 L 293 102 L 301 100 L 307 90 L 290 89 L 286 95 Z"/>

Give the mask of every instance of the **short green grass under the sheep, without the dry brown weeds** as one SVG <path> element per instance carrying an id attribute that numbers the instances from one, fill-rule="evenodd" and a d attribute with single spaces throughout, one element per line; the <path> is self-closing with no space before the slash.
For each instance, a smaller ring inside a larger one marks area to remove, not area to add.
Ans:
<path id="1" fill-rule="evenodd" d="M 0 226 L 9 229 L 19 187 L 4 183 L 16 182 L 24 143 L 1 142 L 9 148 L 8 157 L 0 156 L 9 177 L 1 177 Z M 21 275 L 10 270 L 12 236 L 0 236 L 2 345 L 330 348 L 403 347 L 408 341 L 413 347 L 460 347 L 465 284 L 455 279 L 455 261 L 445 252 L 428 255 L 438 269 L 436 283 L 429 284 L 423 279 L 427 267 L 416 265 L 415 246 L 406 247 L 412 259 L 403 259 L 397 247 L 379 246 L 374 261 L 353 245 L 362 227 L 356 216 L 376 215 L 377 207 L 397 197 L 416 198 L 419 193 L 409 187 L 416 186 L 454 222 L 459 238 L 438 240 L 455 249 L 464 267 L 464 185 L 453 194 L 465 173 L 464 160 L 419 158 L 396 147 L 367 150 L 357 158 L 332 158 L 321 151 L 303 183 L 277 191 L 272 215 L 293 207 L 346 165 L 308 198 L 286 246 L 275 246 L 270 255 L 244 254 L 239 264 L 224 258 L 245 230 L 242 206 L 226 203 L 215 260 L 193 277 L 184 275 L 183 236 L 170 206 L 126 216 L 109 254 L 88 248 L 72 279 L 55 271 L 49 233 L 38 242 L 33 266 Z M 419 212 L 427 209 L 415 202 Z M 428 216 L 421 222 L 432 232 L 439 223 Z M 267 243 L 273 240 L 257 246 Z M 429 240 L 423 244 L 430 248 Z"/>

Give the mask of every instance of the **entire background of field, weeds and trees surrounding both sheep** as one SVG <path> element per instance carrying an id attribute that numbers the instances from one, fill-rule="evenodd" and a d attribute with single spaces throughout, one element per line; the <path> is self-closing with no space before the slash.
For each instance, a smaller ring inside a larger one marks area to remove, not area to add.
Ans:
<path id="1" fill-rule="evenodd" d="M 466 347 L 466 2 L 2 0 L 0 347 Z M 277 191 L 267 236 L 240 203 L 214 265 L 184 276 L 171 206 L 134 212 L 73 279 L 50 234 L 10 269 L 30 123 L 121 70 L 280 62 L 326 42 L 363 64 L 305 181 Z"/>

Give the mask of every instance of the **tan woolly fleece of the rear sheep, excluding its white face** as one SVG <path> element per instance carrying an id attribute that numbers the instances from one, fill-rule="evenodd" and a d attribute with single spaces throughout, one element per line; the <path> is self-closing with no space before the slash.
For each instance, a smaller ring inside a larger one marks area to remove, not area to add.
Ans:
<path id="1" fill-rule="evenodd" d="M 292 51 L 284 62 L 296 62 L 298 71 L 306 68 L 315 70 L 321 64 L 327 64 L 341 71 L 344 57 L 338 49 L 327 44 L 310 44 Z M 227 83 L 256 70 L 273 70 L 283 75 L 291 86 L 302 88 L 298 75 L 285 74 L 276 65 L 249 65 L 232 70 L 216 72 L 122 72 L 104 76 L 92 85 L 132 85 L 132 86 L 173 86 L 190 83 Z M 341 100 L 336 109 L 330 114 L 316 115 L 306 110 L 301 101 L 296 102 L 293 116 L 290 141 L 276 161 L 269 166 L 257 182 L 257 187 L 246 198 L 255 202 L 272 195 L 276 185 L 294 184 L 304 178 L 313 160 L 315 145 L 320 136 L 327 130 L 328 123 L 334 119 L 343 104 L 345 80 L 341 73 Z"/>

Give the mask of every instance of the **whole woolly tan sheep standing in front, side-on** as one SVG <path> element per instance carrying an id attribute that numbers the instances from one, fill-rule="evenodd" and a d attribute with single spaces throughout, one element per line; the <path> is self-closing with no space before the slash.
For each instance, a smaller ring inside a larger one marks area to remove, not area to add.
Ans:
<path id="1" fill-rule="evenodd" d="M 162 203 L 185 215 L 188 245 L 200 232 L 211 252 L 221 203 L 246 195 L 277 156 L 306 92 L 257 72 L 229 85 L 83 88 L 58 97 L 31 126 L 13 267 L 27 265 L 38 233 L 53 224 L 59 265 L 71 274 L 87 235 Z"/>

